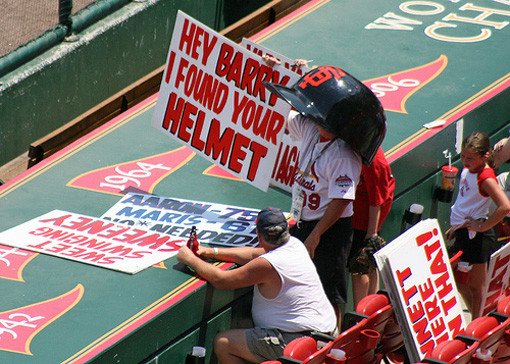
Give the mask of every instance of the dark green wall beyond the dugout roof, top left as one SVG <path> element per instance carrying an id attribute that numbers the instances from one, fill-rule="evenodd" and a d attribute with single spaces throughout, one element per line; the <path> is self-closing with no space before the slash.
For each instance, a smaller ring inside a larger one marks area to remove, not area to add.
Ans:
<path id="1" fill-rule="evenodd" d="M 267 2 L 130 2 L 0 77 L 0 165 L 163 65 L 178 9 L 219 30 Z"/>

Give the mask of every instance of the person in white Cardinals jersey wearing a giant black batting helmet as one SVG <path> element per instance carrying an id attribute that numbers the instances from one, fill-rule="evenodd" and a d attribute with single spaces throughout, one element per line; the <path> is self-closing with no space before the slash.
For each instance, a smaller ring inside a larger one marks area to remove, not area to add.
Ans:
<path id="1" fill-rule="evenodd" d="M 372 162 L 386 134 L 384 110 L 368 87 L 334 66 L 316 67 L 291 87 L 264 84 L 292 106 L 287 128 L 301 150 L 292 187 L 296 224 L 290 232 L 312 257 L 340 328 L 352 202 L 361 165 Z"/>

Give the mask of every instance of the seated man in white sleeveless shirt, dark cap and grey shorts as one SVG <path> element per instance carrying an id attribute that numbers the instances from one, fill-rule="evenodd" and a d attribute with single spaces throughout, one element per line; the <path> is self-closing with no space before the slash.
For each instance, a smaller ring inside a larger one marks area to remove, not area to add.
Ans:
<path id="1" fill-rule="evenodd" d="M 218 289 L 254 286 L 252 329 L 219 333 L 214 350 L 219 363 L 262 362 L 277 359 L 295 338 L 311 331 L 331 333 L 336 316 L 315 265 L 301 241 L 291 237 L 287 220 L 276 208 L 260 211 L 258 247 L 200 247 L 198 256 L 183 246 L 177 259 Z M 223 271 L 201 258 L 235 262 Z"/>

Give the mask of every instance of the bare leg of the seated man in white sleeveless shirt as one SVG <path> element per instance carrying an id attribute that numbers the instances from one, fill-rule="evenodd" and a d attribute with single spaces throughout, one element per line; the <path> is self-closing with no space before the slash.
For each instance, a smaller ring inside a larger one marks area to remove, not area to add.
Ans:
<path id="1" fill-rule="evenodd" d="M 256 363 L 258 359 L 248 349 L 245 329 L 220 332 L 214 338 L 214 352 L 219 364 Z"/>

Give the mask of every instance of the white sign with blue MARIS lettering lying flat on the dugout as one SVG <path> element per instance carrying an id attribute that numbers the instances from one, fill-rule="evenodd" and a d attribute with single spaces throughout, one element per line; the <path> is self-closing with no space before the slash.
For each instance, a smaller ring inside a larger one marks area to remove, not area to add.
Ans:
<path id="1" fill-rule="evenodd" d="M 259 210 L 209 202 L 129 193 L 102 218 L 187 239 L 192 226 L 206 244 L 256 245 L 255 219 Z"/>

